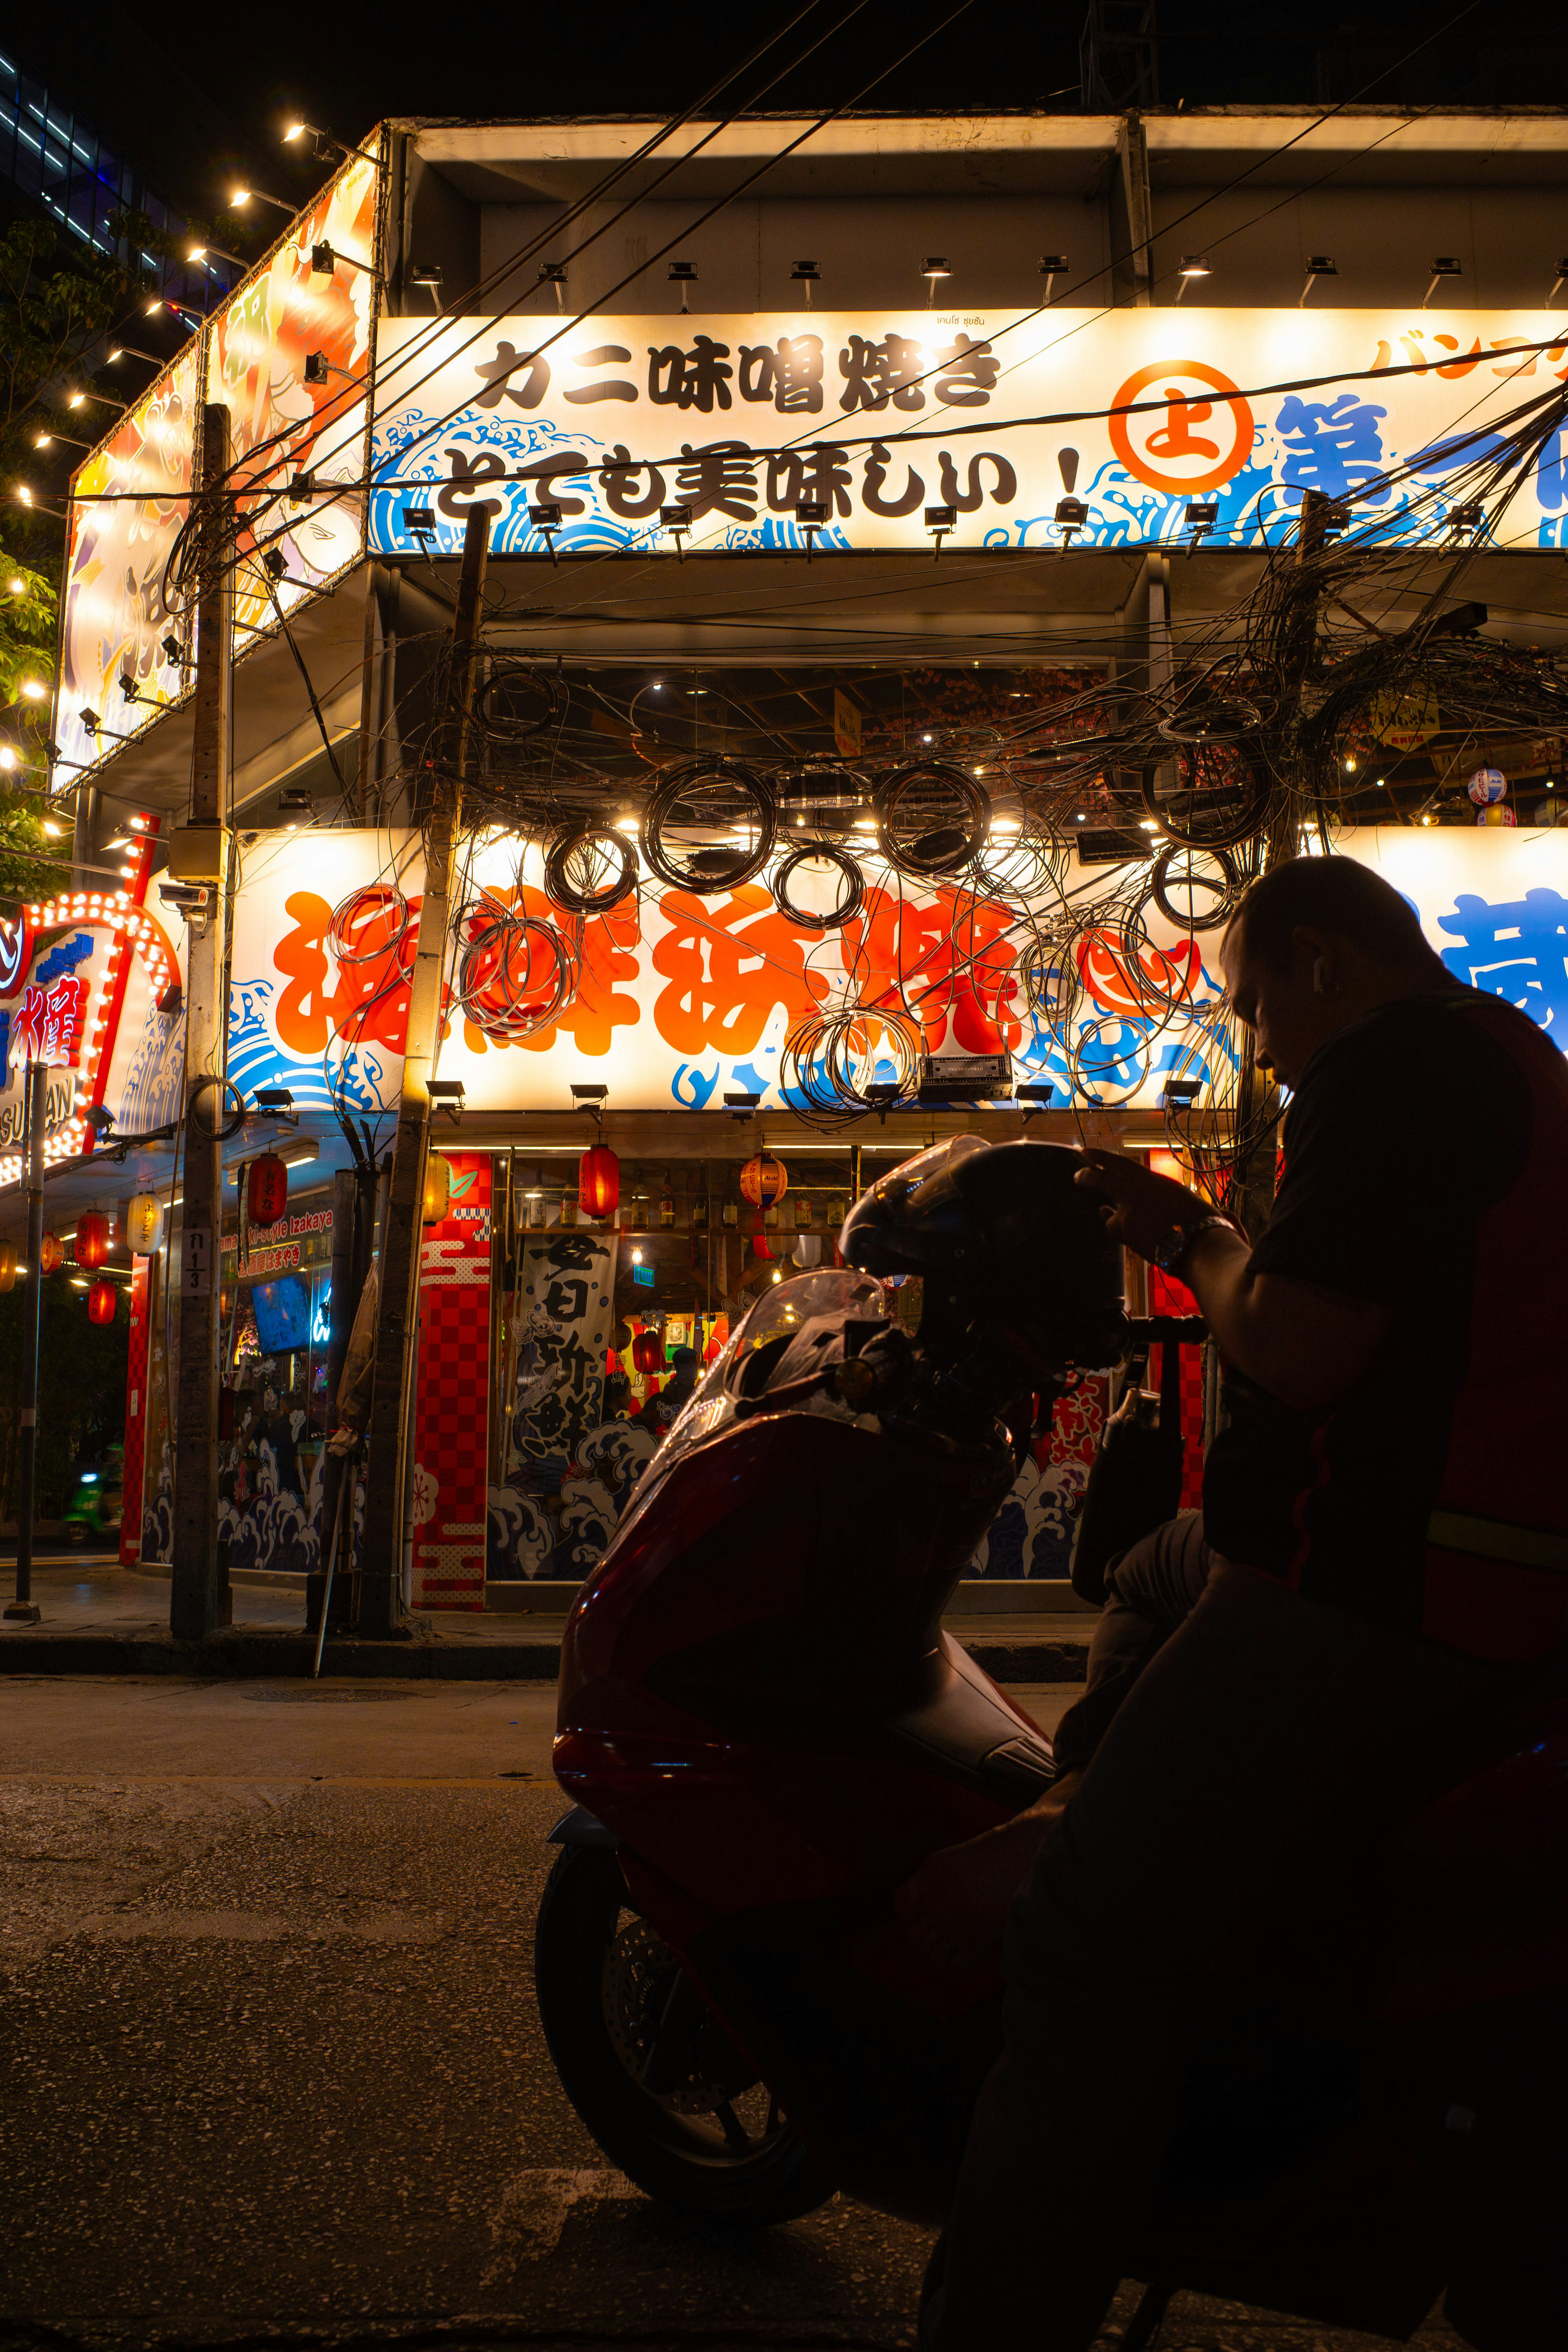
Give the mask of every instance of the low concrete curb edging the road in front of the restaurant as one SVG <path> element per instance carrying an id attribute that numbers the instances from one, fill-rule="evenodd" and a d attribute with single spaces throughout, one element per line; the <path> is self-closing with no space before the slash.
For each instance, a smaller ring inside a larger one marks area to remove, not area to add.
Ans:
<path id="1" fill-rule="evenodd" d="M 1088 1642 L 964 1639 L 997 1682 L 1084 1682 Z M 190 1675 L 209 1682 L 308 1677 L 315 1642 L 303 1632 L 221 1632 L 176 1642 L 155 1632 L 14 1632 L 0 1642 L 0 1675 Z M 322 1675 L 397 1682 L 555 1682 L 559 1642 L 327 1642 Z"/>

